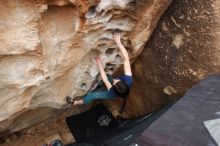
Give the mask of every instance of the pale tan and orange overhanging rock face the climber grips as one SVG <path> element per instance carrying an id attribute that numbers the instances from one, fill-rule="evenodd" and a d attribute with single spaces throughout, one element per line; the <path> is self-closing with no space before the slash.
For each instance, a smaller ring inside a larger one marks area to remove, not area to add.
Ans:
<path id="1" fill-rule="evenodd" d="M 137 57 L 170 1 L 0 1 L 0 132 L 53 118 L 67 95 L 94 88 L 94 56 L 112 74 L 122 63 L 115 29 Z"/>

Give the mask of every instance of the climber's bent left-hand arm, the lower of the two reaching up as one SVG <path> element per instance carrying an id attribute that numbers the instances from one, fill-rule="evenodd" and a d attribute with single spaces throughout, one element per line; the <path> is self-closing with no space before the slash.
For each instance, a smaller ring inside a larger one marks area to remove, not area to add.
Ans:
<path id="1" fill-rule="evenodd" d="M 99 67 L 99 72 L 100 72 L 100 75 L 101 75 L 103 82 L 105 83 L 107 89 L 110 90 L 110 88 L 112 87 L 112 84 L 109 82 L 108 77 L 103 69 L 102 60 L 101 60 L 100 56 L 96 57 L 96 63 Z"/>

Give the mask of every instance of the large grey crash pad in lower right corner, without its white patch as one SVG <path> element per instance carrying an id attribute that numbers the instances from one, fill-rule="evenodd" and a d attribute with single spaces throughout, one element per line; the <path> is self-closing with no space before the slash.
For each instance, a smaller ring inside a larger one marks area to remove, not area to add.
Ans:
<path id="1" fill-rule="evenodd" d="M 220 118 L 220 75 L 189 90 L 147 128 L 135 143 L 143 146 L 217 146 L 203 121 Z"/>

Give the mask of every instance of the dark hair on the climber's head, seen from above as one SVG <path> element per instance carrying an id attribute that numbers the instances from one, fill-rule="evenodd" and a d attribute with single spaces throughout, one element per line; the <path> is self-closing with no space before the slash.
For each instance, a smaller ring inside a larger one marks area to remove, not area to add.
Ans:
<path id="1" fill-rule="evenodd" d="M 128 97 L 130 90 L 129 87 L 125 84 L 125 82 L 120 80 L 117 83 L 115 83 L 113 87 L 116 93 L 118 93 L 120 97 L 122 98 Z"/>

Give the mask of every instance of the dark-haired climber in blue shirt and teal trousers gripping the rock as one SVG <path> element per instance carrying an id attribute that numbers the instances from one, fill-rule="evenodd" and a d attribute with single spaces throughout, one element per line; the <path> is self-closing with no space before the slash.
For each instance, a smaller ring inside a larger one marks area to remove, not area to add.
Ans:
<path id="1" fill-rule="evenodd" d="M 113 40 L 119 47 L 120 52 L 124 59 L 124 75 L 114 78 L 113 81 L 110 81 L 102 66 L 101 57 L 97 56 L 95 58 L 95 61 L 99 67 L 99 72 L 100 72 L 102 81 L 104 82 L 108 90 L 90 92 L 80 100 L 74 100 L 71 97 L 67 96 L 66 100 L 68 103 L 72 103 L 73 105 L 89 104 L 92 101 L 97 100 L 97 99 L 114 99 L 116 97 L 121 97 L 125 99 L 128 97 L 128 94 L 129 94 L 129 91 L 130 91 L 130 88 L 133 82 L 128 52 L 123 46 L 123 44 L 121 43 L 120 33 L 114 33 Z"/>

